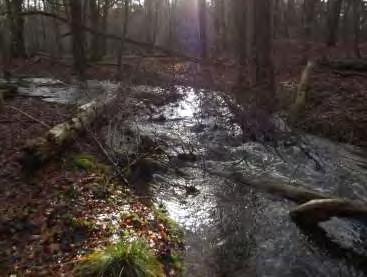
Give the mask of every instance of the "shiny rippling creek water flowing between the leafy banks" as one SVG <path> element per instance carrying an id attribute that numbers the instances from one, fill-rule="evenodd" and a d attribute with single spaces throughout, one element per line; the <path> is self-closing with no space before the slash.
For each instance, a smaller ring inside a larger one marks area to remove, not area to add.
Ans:
<path id="1" fill-rule="evenodd" d="M 24 88 L 47 101 L 59 85 Z M 116 84 L 90 83 L 89 91 Z M 31 89 L 30 89 L 31 88 Z M 221 93 L 176 86 L 181 97 L 139 115 L 135 126 L 164 145 L 175 170 L 154 175 L 152 194 L 185 230 L 185 276 L 365 276 L 367 225 L 334 218 L 318 232 L 289 217 L 294 203 L 219 177 L 240 171 L 250 178 L 297 182 L 334 196 L 367 201 L 367 154 L 320 137 L 288 137 L 278 146 L 243 142 Z M 160 88 L 136 87 L 161 93 Z M 58 90 L 60 92 L 60 90 Z M 80 97 L 65 88 L 61 101 Z M 169 93 L 169 92 L 167 92 Z M 51 94 L 51 95 L 50 95 Z M 89 92 L 89 94 L 91 94 Z M 307 149 L 307 152 L 304 151 Z M 188 155 L 190 154 L 190 155 Z M 191 157 L 191 158 L 187 158 Z M 209 173 L 210 172 L 210 173 Z M 195 187 L 196 193 L 189 193 Z"/>

